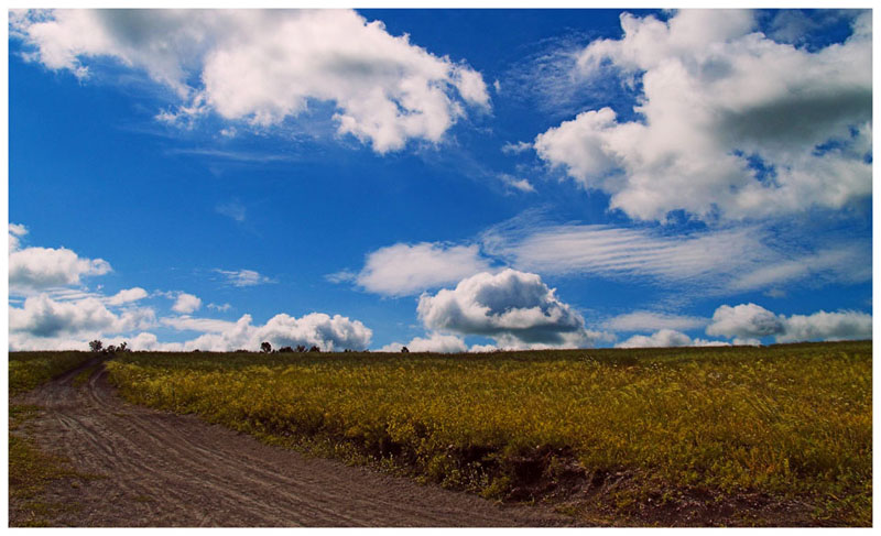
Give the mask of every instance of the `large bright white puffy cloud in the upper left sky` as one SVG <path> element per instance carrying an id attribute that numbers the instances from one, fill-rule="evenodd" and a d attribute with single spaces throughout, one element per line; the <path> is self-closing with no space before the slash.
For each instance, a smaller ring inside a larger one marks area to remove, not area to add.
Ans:
<path id="1" fill-rule="evenodd" d="M 81 78 L 101 57 L 143 69 L 177 94 L 159 114 L 172 123 L 213 111 L 265 128 L 325 101 L 339 134 L 384 153 L 439 142 L 467 106 L 490 106 L 479 73 L 352 10 L 28 11 L 11 15 L 10 34 Z"/>

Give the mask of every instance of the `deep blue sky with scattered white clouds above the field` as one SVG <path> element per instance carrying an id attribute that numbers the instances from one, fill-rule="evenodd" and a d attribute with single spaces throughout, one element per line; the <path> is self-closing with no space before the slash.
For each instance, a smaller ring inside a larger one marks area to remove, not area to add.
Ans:
<path id="1" fill-rule="evenodd" d="M 868 11 L 9 32 L 12 350 L 871 338 Z"/>

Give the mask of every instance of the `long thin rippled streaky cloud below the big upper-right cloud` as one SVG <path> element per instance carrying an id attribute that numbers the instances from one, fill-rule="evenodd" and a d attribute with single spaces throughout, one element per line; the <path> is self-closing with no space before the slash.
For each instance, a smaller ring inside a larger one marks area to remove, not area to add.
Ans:
<path id="1" fill-rule="evenodd" d="M 650 277 L 666 285 L 697 285 L 704 293 L 800 281 L 871 281 L 870 240 L 840 233 L 823 239 L 775 236 L 753 225 L 670 234 L 645 227 L 551 225 L 527 211 L 487 229 L 480 243 L 518 270 Z"/>

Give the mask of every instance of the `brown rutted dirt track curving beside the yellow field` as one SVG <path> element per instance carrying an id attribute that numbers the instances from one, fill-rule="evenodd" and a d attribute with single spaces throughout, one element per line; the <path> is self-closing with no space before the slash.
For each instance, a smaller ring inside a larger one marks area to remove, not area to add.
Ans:
<path id="1" fill-rule="evenodd" d="M 44 497 L 70 504 L 55 526 L 548 526 L 568 518 L 540 506 L 499 505 L 410 480 L 312 459 L 250 436 L 134 406 L 102 367 L 77 370 L 19 397 L 43 408 L 33 438 L 77 471 Z M 14 524 L 13 510 L 10 522 Z"/>

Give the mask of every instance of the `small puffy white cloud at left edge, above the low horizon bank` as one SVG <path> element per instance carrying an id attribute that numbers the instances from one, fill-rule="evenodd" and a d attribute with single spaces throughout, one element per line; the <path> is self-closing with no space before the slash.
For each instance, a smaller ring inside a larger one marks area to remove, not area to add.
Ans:
<path id="1" fill-rule="evenodd" d="M 9 291 L 21 294 L 78 285 L 79 278 L 110 272 L 104 259 L 83 259 L 66 248 L 25 248 L 9 254 Z"/>

